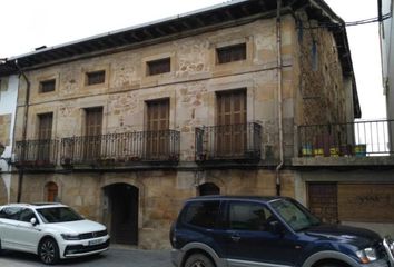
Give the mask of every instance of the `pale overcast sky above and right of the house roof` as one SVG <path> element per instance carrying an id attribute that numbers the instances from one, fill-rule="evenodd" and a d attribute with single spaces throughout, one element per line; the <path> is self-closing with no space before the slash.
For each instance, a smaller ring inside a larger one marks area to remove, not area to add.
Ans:
<path id="1" fill-rule="evenodd" d="M 0 58 L 221 3 L 223 0 L 1 1 Z M 345 21 L 377 16 L 377 0 L 326 0 Z M 363 119 L 385 118 L 377 23 L 347 28 Z"/>

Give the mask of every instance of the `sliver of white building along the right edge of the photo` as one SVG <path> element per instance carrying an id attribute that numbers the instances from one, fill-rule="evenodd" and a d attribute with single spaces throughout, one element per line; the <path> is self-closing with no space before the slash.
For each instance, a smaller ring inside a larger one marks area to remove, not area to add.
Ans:
<path id="1" fill-rule="evenodd" d="M 380 16 L 385 19 L 380 27 L 381 33 L 381 55 L 382 55 L 382 72 L 383 88 L 386 96 L 387 119 L 394 120 L 394 20 L 393 6 L 394 0 L 378 0 Z M 394 150 L 394 122 L 390 123 L 391 151 Z"/>

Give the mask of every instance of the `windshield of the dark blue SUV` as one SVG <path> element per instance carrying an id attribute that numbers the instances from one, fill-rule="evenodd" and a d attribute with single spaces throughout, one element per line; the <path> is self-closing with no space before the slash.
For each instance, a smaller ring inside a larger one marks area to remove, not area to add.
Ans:
<path id="1" fill-rule="evenodd" d="M 295 231 L 305 230 L 312 226 L 321 224 L 318 218 L 296 201 L 277 199 L 272 201 L 270 206 Z"/>

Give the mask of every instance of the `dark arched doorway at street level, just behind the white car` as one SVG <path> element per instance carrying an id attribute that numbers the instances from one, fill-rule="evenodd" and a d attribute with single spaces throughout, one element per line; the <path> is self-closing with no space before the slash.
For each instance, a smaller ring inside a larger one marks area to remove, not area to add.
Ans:
<path id="1" fill-rule="evenodd" d="M 128 184 L 114 184 L 104 188 L 111 241 L 138 245 L 139 190 Z"/>

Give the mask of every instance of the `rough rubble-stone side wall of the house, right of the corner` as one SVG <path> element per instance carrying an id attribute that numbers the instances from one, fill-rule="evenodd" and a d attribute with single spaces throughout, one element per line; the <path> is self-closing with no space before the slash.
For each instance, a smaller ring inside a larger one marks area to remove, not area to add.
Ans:
<path id="1" fill-rule="evenodd" d="M 347 122 L 346 106 L 352 105 L 346 93 L 338 50 L 333 33 L 321 28 L 316 21 L 308 21 L 303 13 L 298 24 L 297 115 L 299 125 L 324 125 Z M 352 105 L 353 107 L 353 105 Z M 353 110 L 352 110 L 353 111 Z"/>

